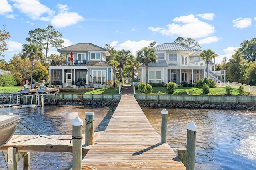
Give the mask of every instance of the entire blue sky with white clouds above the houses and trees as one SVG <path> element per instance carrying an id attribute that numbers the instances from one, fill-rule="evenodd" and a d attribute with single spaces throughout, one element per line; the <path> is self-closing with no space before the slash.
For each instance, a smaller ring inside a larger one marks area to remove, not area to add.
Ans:
<path id="1" fill-rule="evenodd" d="M 135 55 L 152 41 L 184 37 L 215 51 L 220 63 L 256 37 L 255 7 L 255 0 L 0 0 L 0 29 L 5 25 L 11 35 L 0 59 L 19 53 L 30 30 L 52 25 L 63 34 L 64 47 L 108 43 Z"/>

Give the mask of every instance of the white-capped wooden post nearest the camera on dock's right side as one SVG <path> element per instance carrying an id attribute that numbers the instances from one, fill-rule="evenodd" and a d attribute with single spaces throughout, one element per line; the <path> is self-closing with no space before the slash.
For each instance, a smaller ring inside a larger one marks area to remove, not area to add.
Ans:
<path id="1" fill-rule="evenodd" d="M 195 169 L 196 155 L 196 125 L 190 122 L 187 125 L 187 155 L 186 155 L 186 170 Z"/>

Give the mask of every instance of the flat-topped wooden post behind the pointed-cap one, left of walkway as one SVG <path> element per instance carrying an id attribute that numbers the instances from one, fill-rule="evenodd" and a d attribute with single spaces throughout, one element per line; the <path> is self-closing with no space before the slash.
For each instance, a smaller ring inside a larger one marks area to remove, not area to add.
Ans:
<path id="1" fill-rule="evenodd" d="M 85 145 L 93 144 L 94 112 L 85 112 Z"/>

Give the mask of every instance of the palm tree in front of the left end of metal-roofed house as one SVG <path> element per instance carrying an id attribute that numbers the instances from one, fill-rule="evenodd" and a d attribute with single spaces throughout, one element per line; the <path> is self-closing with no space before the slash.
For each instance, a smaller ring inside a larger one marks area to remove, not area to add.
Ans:
<path id="1" fill-rule="evenodd" d="M 152 48 L 144 47 L 141 50 L 136 52 L 137 54 L 137 61 L 141 64 L 145 64 L 146 68 L 146 84 L 148 84 L 148 64 L 153 62 L 156 63 L 156 51 Z"/>

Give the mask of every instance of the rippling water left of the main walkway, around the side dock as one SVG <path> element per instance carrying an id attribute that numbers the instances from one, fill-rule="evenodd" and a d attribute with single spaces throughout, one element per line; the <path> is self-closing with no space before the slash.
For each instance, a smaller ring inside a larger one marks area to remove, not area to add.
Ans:
<path id="1" fill-rule="evenodd" d="M 55 135 L 57 133 L 72 134 L 72 121 L 76 117 L 85 120 L 85 112 L 94 112 L 95 131 L 104 131 L 115 108 L 91 108 L 86 106 L 44 106 L 26 109 L 2 108 L 0 115 L 19 112 L 20 121 L 32 131 L 40 135 Z M 16 135 L 34 135 L 29 129 L 18 125 Z M 85 128 L 83 128 L 85 133 Z M 72 153 L 30 153 L 31 170 L 69 170 L 72 168 Z M 18 170 L 22 170 L 22 160 L 18 162 Z M 0 156 L 0 169 L 7 169 L 3 156 Z"/>

